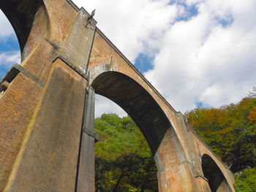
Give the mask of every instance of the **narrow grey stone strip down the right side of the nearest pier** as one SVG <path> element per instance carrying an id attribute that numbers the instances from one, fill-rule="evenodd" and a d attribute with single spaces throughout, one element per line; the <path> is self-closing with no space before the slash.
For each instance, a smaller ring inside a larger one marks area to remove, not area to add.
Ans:
<path id="1" fill-rule="evenodd" d="M 86 91 L 86 105 L 83 117 L 83 128 L 80 141 L 78 168 L 78 192 L 93 192 L 94 187 L 94 142 L 97 134 L 94 132 L 94 90 Z"/>

